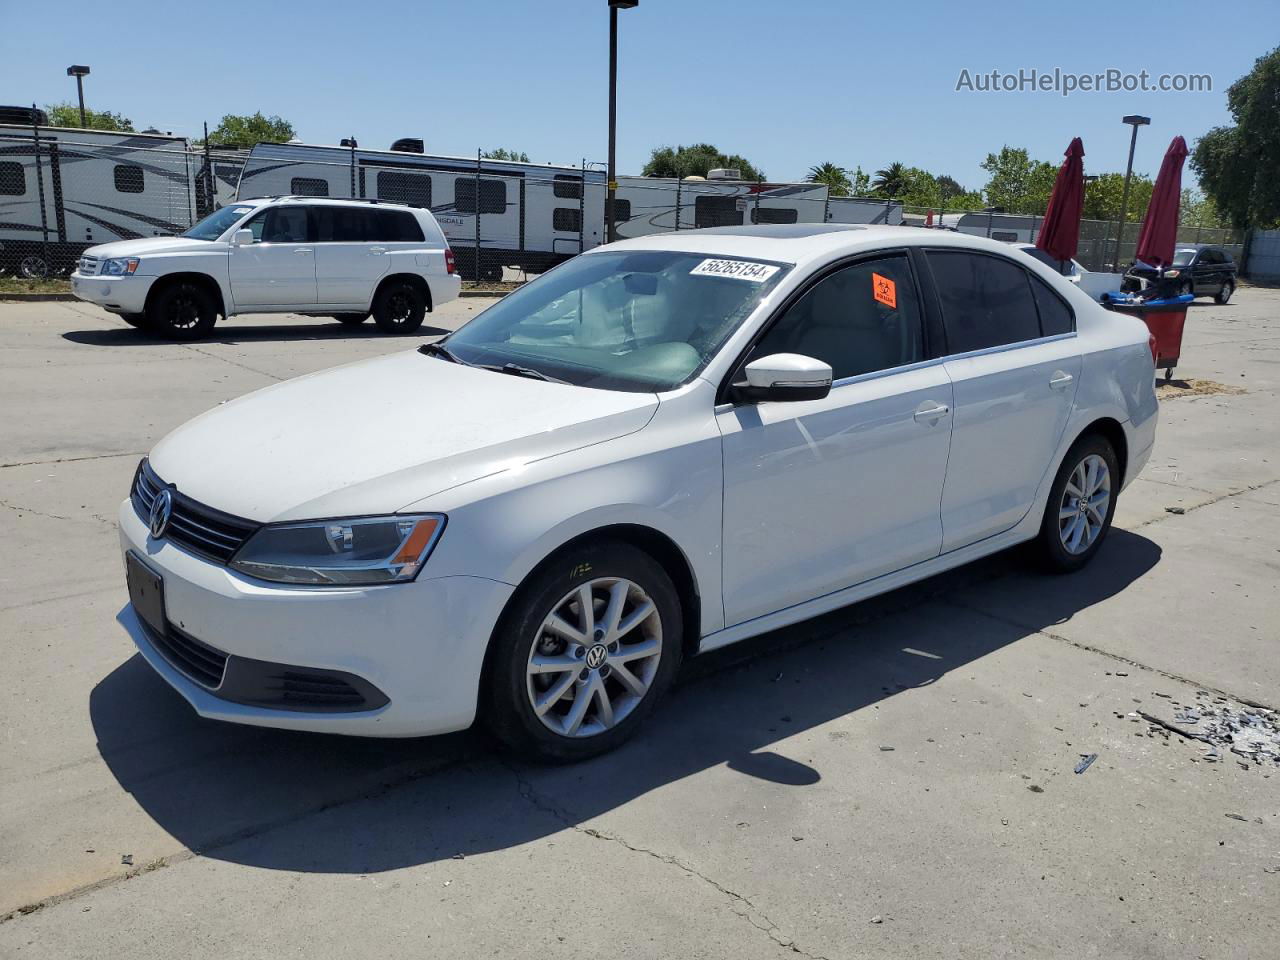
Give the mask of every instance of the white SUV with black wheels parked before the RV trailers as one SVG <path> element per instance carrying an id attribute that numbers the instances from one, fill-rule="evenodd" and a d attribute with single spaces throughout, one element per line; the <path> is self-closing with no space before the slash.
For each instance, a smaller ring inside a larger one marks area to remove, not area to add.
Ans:
<path id="1" fill-rule="evenodd" d="M 218 316 L 297 312 L 412 333 L 458 296 L 453 251 L 429 210 L 266 197 L 225 206 L 180 237 L 84 251 L 72 292 L 127 323 L 197 339 Z"/>

